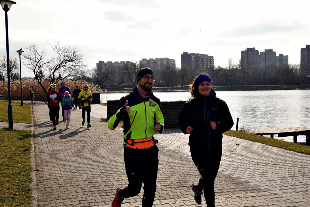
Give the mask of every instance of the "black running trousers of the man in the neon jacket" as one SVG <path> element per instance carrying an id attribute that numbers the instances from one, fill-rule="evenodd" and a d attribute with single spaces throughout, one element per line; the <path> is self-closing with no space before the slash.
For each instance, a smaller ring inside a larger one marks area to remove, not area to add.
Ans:
<path id="1" fill-rule="evenodd" d="M 139 194 L 144 183 L 142 207 L 152 207 L 158 170 L 158 147 L 156 145 L 147 149 L 132 149 L 124 147 L 124 161 L 128 186 L 120 191 L 123 198 L 133 197 Z"/>

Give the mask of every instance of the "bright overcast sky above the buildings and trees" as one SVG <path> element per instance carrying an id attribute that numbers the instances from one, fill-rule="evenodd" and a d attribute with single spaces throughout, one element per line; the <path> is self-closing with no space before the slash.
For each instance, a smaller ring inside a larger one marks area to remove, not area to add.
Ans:
<path id="1" fill-rule="evenodd" d="M 87 69 L 101 61 L 169 57 L 183 52 L 237 62 L 241 50 L 273 49 L 300 63 L 310 44 L 309 0 L 16 0 L 8 11 L 10 56 L 33 42 L 74 45 Z M 5 13 L 0 12 L 0 55 L 6 55 Z M 22 76 L 33 76 L 22 65 Z"/>

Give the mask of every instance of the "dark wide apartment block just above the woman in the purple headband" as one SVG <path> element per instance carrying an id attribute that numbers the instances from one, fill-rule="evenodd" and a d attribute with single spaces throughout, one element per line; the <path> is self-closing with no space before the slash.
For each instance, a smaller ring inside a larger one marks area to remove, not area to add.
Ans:
<path id="1" fill-rule="evenodd" d="M 199 53 L 183 52 L 181 54 L 181 65 L 188 65 L 193 70 L 211 68 L 214 67 L 214 57 Z"/>

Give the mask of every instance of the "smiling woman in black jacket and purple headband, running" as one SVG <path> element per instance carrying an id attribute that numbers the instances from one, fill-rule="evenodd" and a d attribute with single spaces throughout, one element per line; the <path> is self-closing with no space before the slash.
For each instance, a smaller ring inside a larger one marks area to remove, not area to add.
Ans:
<path id="1" fill-rule="evenodd" d="M 192 97 L 185 102 L 178 124 L 189 135 L 189 147 L 201 178 L 192 185 L 194 199 L 201 204 L 202 191 L 208 207 L 215 206 L 214 180 L 222 157 L 224 132 L 233 126 L 232 116 L 225 101 L 216 97 L 209 75 L 199 74 L 191 88 Z"/>

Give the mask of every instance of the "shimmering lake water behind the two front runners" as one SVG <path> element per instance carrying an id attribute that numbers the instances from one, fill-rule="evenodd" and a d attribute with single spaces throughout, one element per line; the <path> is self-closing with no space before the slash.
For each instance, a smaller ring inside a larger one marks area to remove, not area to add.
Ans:
<path id="1" fill-rule="evenodd" d="M 160 101 L 186 101 L 188 91 L 156 91 Z M 258 128 L 310 127 L 310 90 L 266 90 L 266 91 L 215 91 L 226 101 L 234 120 L 233 130 Z M 101 94 L 101 102 L 117 100 L 129 92 L 107 92 Z M 293 137 L 277 137 L 293 142 Z M 306 143 L 305 136 L 298 136 L 298 143 Z"/>

